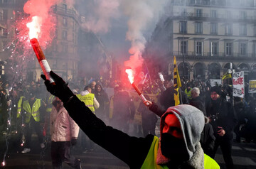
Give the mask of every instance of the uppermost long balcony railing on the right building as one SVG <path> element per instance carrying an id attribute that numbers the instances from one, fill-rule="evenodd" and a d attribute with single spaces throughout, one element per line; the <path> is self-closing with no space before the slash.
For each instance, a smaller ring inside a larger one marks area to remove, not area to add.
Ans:
<path id="1" fill-rule="evenodd" d="M 211 18 L 211 19 L 240 19 L 240 20 L 247 20 L 247 21 L 256 21 L 255 16 L 244 16 L 241 17 L 240 15 L 230 16 L 227 17 L 225 14 L 218 14 L 217 16 L 210 16 L 210 13 L 196 13 L 196 12 L 175 12 L 174 17 L 183 17 L 183 18 Z"/>

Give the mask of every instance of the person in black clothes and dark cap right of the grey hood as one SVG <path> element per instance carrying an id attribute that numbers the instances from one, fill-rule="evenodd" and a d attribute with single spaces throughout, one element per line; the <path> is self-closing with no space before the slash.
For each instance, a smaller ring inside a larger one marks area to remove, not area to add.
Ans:
<path id="1" fill-rule="evenodd" d="M 233 129 L 238 122 L 235 109 L 232 104 L 226 101 L 218 86 L 210 88 L 210 102 L 206 103 L 206 114 L 210 118 L 210 124 L 213 126 L 215 145 L 213 148 L 213 157 L 218 147 L 223 153 L 225 166 L 228 169 L 234 168 L 231 156 L 233 142 Z"/>

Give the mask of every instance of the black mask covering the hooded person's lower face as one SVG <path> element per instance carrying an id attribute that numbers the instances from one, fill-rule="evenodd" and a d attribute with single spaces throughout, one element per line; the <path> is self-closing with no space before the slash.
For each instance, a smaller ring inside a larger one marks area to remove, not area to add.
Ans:
<path id="1" fill-rule="evenodd" d="M 161 153 L 175 162 L 189 160 L 186 143 L 181 138 L 176 138 L 169 133 L 161 135 Z"/>

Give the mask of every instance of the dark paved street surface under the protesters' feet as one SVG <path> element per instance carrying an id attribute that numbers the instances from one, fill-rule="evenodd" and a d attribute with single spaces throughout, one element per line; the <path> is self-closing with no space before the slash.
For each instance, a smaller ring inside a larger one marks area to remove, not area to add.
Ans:
<path id="1" fill-rule="evenodd" d="M 1 139 L 1 162 L 4 158 L 4 149 L 6 144 Z M 16 147 L 16 143 L 9 142 L 9 153 L 6 156 L 6 166 L 4 168 L 18 168 L 18 169 L 34 169 L 34 168 L 51 168 L 50 160 L 50 148 L 49 145 L 44 151 L 39 148 L 39 143 L 33 141 L 33 148 L 30 153 L 21 154 Z M 97 151 L 82 153 L 79 148 L 73 150 L 73 153 L 77 158 L 82 160 L 82 168 L 94 168 L 94 169 L 107 169 L 107 168 L 118 168 L 127 169 L 129 168 L 118 158 L 115 158 L 110 153 L 102 148 L 97 148 Z M 223 156 L 220 150 L 215 158 L 220 164 L 221 168 L 225 168 Z M 235 168 L 237 169 L 256 169 L 256 144 L 255 143 L 233 143 L 233 160 Z M 68 165 L 63 163 L 63 168 L 70 168 Z"/>

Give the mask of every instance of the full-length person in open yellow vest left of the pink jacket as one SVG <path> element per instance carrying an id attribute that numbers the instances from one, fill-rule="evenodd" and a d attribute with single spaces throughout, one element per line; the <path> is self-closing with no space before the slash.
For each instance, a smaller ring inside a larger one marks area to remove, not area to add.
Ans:
<path id="1" fill-rule="evenodd" d="M 22 102 L 22 99 L 18 102 L 18 107 L 21 106 L 21 112 L 25 118 L 25 130 L 26 130 L 26 143 L 25 148 L 21 153 L 28 153 L 31 151 L 31 136 L 32 130 L 36 131 L 41 148 L 45 148 L 43 143 L 43 132 L 41 130 L 41 116 L 46 110 L 46 104 L 41 99 L 37 99 L 34 92 L 28 94 L 28 99 Z M 18 109 L 20 110 L 20 109 Z"/>

